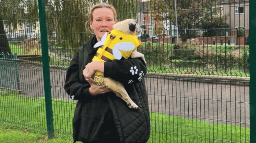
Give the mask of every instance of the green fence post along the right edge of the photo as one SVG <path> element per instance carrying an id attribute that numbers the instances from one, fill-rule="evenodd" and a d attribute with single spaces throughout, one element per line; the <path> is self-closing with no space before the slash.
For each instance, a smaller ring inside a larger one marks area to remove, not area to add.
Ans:
<path id="1" fill-rule="evenodd" d="M 256 1 L 250 0 L 250 142 L 256 142 Z"/>

